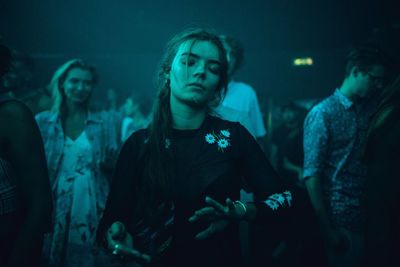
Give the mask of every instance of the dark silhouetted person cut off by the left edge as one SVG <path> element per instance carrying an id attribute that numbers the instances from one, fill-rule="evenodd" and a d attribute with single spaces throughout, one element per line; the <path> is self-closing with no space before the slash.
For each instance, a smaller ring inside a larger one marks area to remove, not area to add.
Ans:
<path id="1" fill-rule="evenodd" d="M 0 79 L 11 67 L 0 45 Z M 0 266 L 39 266 L 51 224 L 46 158 L 32 112 L 0 86 Z"/>

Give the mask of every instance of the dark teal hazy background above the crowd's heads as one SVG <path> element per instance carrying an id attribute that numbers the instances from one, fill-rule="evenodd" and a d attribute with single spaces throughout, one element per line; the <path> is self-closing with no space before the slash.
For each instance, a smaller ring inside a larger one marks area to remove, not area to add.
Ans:
<path id="1" fill-rule="evenodd" d="M 349 47 L 381 28 L 398 41 L 399 10 L 387 0 L 0 0 L 0 36 L 34 58 L 37 87 L 80 57 L 98 68 L 98 93 L 116 88 L 150 102 L 167 40 L 187 27 L 213 28 L 244 44 L 236 79 L 251 84 L 260 102 L 285 102 L 327 96 L 342 81 Z M 314 65 L 293 67 L 302 56 Z"/>

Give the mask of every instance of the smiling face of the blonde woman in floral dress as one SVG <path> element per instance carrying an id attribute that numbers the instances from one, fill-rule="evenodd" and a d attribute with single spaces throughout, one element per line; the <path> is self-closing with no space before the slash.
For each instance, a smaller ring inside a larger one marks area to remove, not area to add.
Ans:
<path id="1" fill-rule="evenodd" d="M 62 84 L 68 101 L 83 103 L 92 93 L 93 75 L 89 70 L 73 68 L 69 70 Z"/>

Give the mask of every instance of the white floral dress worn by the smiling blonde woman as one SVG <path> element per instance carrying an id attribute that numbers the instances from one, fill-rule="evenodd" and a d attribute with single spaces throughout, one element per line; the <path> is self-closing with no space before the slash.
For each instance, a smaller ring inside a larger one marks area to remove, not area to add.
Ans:
<path id="1" fill-rule="evenodd" d="M 50 266 L 93 266 L 92 246 L 101 216 L 93 179 L 92 146 L 86 132 L 65 139 L 56 179 L 54 230 L 47 240 Z"/>

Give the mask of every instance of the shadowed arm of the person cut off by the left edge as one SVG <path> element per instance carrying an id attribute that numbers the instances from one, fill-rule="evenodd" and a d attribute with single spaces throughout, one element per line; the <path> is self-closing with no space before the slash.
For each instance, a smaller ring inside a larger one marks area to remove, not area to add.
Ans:
<path id="1" fill-rule="evenodd" d="M 36 266 L 43 233 L 50 229 L 51 190 L 43 142 L 32 112 L 11 100 L 0 107 L 0 135 L 16 173 L 21 223 L 8 266 Z M 16 222 L 19 224 L 20 222 Z"/>

